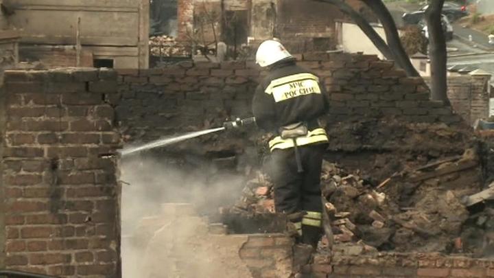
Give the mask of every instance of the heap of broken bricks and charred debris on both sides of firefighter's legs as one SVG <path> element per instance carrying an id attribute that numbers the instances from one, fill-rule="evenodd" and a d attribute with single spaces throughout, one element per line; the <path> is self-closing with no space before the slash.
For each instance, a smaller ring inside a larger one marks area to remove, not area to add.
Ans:
<path id="1" fill-rule="evenodd" d="M 324 224 L 333 231 L 333 251 L 349 255 L 375 251 L 469 253 L 485 257 L 489 236 L 494 235 L 489 233 L 489 227 L 494 229 L 494 209 L 474 210 L 494 196 L 494 187 L 482 191 L 475 152 L 467 150 L 463 155 L 419 167 L 416 161 L 409 165 L 376 184 L 366 173 L 324 161 L 322 195 L 331 222 Z M 272 187 L 266 174 L 256 172 L 228 213 L 274 212 Z M 494 242 L 494 237 L 491 240 Z M 327 244 L 323 238 L 321 251 Z"/>

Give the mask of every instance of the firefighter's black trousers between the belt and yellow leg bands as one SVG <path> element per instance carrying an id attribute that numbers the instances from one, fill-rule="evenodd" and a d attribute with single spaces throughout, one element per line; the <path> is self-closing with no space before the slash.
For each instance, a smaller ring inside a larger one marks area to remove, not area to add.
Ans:
<path id="1" fill-rule="evenodd" d="M 273 150 L 270 176 L 277 212 L 322 211 L 320 174 L 327 144 L 298 146 L 303 172 L 298 173 L 295 149 Z"/>

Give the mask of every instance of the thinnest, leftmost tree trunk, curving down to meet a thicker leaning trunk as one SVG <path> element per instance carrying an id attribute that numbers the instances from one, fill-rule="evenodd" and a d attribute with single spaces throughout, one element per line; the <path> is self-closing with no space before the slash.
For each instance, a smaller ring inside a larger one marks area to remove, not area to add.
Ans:
<path id="1" fill-rule="evenodd" d="M 350 5 L 340 0 L 313 0 L 317 2 L 329 3 L 336 5 L 344 14 L 348 15 L 357 23 L 358 27 L 366 34 L 366 36 L 373 42 L 375 47 L 386 57 L 388 60 L 395 60 L 391 49 L 386 45 L 386 42 L 375 32 L 374 28 L 362 17 L 358 12 L 353 10 Z"/>

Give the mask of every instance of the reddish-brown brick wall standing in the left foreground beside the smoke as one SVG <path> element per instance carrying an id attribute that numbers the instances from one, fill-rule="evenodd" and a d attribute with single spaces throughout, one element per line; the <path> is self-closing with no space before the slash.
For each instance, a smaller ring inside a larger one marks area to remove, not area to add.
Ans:
<path id="1" fill-rule="evenodd" d="M 115 71 L 6 71 L 5 262 L 60 276 L 119 277 Z"/>

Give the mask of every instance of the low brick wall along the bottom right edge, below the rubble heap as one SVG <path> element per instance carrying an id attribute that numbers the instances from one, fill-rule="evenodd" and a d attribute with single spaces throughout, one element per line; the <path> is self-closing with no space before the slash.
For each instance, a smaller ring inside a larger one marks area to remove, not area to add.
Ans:
<path id="1" fill-rule="evenodd" d="M 305 268 L 311 277 L 494 277 L 494 261 L 436 253 L 379 253 L 375 256 L 316 255 Z"/>

